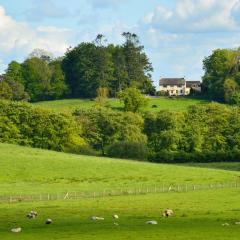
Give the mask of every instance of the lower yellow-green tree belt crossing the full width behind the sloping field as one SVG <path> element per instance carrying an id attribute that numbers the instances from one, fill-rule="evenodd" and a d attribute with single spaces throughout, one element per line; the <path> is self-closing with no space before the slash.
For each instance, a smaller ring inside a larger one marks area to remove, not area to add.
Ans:
<path id="1" fill-rule="evenodd" d="M 61 114 L 28 103 L 0 105 L 0 142 L 154 162 L 240 160 L 237 107 L 134 113 L 97 105 Z"/>

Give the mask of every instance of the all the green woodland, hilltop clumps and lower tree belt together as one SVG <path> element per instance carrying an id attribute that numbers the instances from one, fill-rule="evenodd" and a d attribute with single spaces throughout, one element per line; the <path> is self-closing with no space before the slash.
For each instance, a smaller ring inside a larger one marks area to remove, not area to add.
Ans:
<path id="1" fill-rule="evenodd" d="M 58 59 L 35 50 L 11 62 L 0 80 L 0 142 L 156 162 L 239 161 L 240 50 L 215 50 L 203 61 L 203 96 L 234 106 L 153 113 L 142 110 L 144 94 L 155 94 L 152 65 L 135 34 L 123 37 L 122 45 L 98 35 Z M 108 97 L 123 111 L 108 107 Z M 95 106 L 59 114 L 24 103 L 61 98 L 91 98 Z"/>

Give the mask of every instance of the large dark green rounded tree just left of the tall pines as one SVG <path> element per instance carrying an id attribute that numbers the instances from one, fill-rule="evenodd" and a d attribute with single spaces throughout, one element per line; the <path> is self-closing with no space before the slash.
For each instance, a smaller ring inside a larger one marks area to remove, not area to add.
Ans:
<path id="1" fill-rule="evenodd" d="M 113 80 L 111 54 L 96 42 L 70 49 L 64 57 L 63 69 L 72 97 L 95 98 L 97 89 L 108 88 Z"/>

